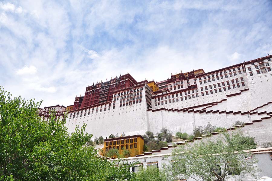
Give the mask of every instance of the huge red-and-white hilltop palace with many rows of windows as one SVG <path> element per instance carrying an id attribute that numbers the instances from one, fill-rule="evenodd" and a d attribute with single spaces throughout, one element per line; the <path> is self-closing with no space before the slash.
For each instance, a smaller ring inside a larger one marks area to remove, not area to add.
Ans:
<path id="1" fill-rule="evenodd" d="M 203 69 L 180 72 L 160 82 L 137 82 L 130 74 L 116 76 L 86 87 L 84 96 L 75 98 L 67 107 L 66 127 L 73 132 L 76 125 L 86 123 L 86 132 L 98 137 L 157 133 L 164 127 L 173 134 L 191 134 L 208 122 L 227 128 L 237 120 L 253 123 L 270 118 L 271 58 L 206 73 Z"/>

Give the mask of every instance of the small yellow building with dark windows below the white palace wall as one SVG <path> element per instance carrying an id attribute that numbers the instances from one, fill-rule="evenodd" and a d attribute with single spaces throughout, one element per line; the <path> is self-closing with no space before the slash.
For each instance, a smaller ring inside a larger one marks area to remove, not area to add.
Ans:
<path id="1" fill-rule="evenodd" d="M 129 156 L 136 156 L 144 153 L 144 138 L 141 135 L 133 135 L 126 137 L 109 138 L 104 140 L 103 153 L 107 153 L 111 149 L 119 150 L 119 154 L 123 150 L 128 150 Z"/>

